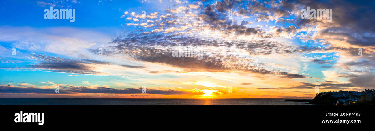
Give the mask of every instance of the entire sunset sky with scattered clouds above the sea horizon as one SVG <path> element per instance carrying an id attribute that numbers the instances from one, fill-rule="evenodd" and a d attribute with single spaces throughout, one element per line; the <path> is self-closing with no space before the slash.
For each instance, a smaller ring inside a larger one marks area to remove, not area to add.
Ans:
<path id="1" fill-rule="evenodd" d="M 45 19 L 51 7 L 74 9 L 75 21 Z M 303 18 L 308 7 L 332 15 Z M 375 89 L 373 7 L 354 0 L 1 0 L 0 97 L 293 98 Z"/>

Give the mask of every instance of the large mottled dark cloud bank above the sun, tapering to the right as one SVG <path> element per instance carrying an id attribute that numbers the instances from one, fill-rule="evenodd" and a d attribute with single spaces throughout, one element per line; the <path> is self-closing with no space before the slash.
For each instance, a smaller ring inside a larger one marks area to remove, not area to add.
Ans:
<path id="1" fill-rule="evenodd" d="M 258 30 L 240 25 L 232 25 L 238 33 L 257 33 Z M 292 30 L 292 29 L 290 29 Z M 136 60 L 145 62 L 162 63 L 175 67 L 185 68 L 186 71 L 209 71 L 209 72 L 230 72 L 245 71 L 258 74 L 276 74 L 285 78 L 304 78 L 305 76 L 283 72 L 278 70 L 267 70 L 261 65 L 247 63 L 249 59 L 239 56 L 215 53 L 209 50 L 202 50 L 200 47 L 236 47 L 249 51 L 251 55 L 277 53 L 291 53 L 292 51 L 283 44 L 274 41 L 226 41 L 224 39 L 201 39 L 182 34 L 165 35 L 134 35 L 130 33 L 113 39 L 115 46 L 107 47 L 103 55 L 125 54 Z M 202 51 L 203 59 L 198 57 L 173 57 L 172 51 L 180 44 L 181 46 L 194 46 Z M 95 53 L 96 50 L 91 50 Z M 206 54 L 210 53 L 210 55 Z M 228 51 L 229 52 L 229 51 Z M 243 63 L 241 63 L 243 61 Z M 245 63 L 246 61 L 246 63 Z M 154 73 L 154 72 L 153 72 Z"/>

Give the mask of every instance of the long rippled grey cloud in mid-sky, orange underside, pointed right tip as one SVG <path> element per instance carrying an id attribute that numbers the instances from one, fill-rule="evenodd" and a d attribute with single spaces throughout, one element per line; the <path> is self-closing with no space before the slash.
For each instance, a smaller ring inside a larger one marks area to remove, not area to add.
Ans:
<path id="1" fill-rule="evenodd" d="M 160 43 L 159 43 L 160 41 Z M 166 43 L 166 41 L 173 41 L 171 43 Z M 264 41 L 260 41 L 264 42 Z M 184 46 L 189 45 L 205 45 L 205 46 L 228 46 L 228 45 L 219 45 L 219 42 L 210 42 L 207 43 L 204 39 L 197 39 L 192 37 L 184 37 L 179 35 L 151 35 L 151 36 L 142 36 L 137 35 L 135 37 L 128 38 L 117 38 L 113 42 L 117 46 L 108 47 L 111 52 L 116 52 L 119 54 L 126 54 L 134 59 L 152 62 L 152 63 L 162 63 L 168 64 L 175 67 L 185 68 L 186 71 L 208 71 L 208 72 L 229 72 L 229 71 L 245 71 L 259 74 L 276 74 L 282 75 L 284 78 L 304 78 L 305 76 L 299 74 L 293 74 L 285 71 L 278 70 L 267 70 L 262 68 L 260 65 L 250 65 L 245 63 L 231 63 L 228 65 L 226 63 L 228 60 L 235 61 L 236 59 L 241 60 L 242 58 L 237 56 L 225 56 L 225 54 L 215 54 L 208 56 L 206 53 L 202 60 L 198 60 L 197 57 L 173 57 L 171 55 L 174 43 L 183 43 Z M 129 44 L 132 43 L 132 44 Z M 257 41 L 255 41 L 257 43 Z M 248 43 L 249 46 L 245 46 L 243 43 L 236 43 L 235 41 L 232 44 L 238 44 L 239 46 L 244 46 L 245 49 L 254 50 L 253 48 L 261 47 L 272 47 L 270 42 L 257 43 L 256 45 Z M 156 48 L 151 45 L 160 45 L 163 48 Z M 242 47 L 237 47 L 242 48 Z M 207 49 L 208 51 L 209 49 Z M 261 52 L 259 52 L 261 53 Z M 110 53 L 104 53 L 110 54 Z M 270 54 L 270 52 L 264 52 L 264 54 Z M 240 61 L 239 61 L 240 62 Z"/>

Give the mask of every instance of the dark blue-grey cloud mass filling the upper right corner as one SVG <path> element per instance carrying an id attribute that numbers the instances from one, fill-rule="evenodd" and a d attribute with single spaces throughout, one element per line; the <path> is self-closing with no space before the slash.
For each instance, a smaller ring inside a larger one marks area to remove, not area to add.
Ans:
<path id="1" fill-rule="evenodd" d="M 296 0 L 290 1 L 290 4 L 302 5 L 304 9 L 307 9 L 307 6 L 310 6 L 310 9 L 332 9 L 333 18 L 330 23 L 297 19 L 296 25 L 299 27 L 317 24 L 326 27 L 327 29 L 318 32 L 318 39 L 344 41 L 364 47 L 375 45 L 375 17 L 371 17 L 375 14 L 374 1 Z"/>

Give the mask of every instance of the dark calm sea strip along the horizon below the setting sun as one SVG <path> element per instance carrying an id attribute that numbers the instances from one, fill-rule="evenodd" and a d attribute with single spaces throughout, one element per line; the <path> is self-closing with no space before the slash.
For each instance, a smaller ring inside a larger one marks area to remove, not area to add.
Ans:
<path id="1" fill-rule="evenodd" d="M 0 98 L 0 105 L 311 105 L 285 99 Z"/>

